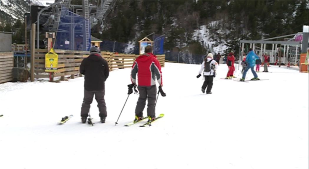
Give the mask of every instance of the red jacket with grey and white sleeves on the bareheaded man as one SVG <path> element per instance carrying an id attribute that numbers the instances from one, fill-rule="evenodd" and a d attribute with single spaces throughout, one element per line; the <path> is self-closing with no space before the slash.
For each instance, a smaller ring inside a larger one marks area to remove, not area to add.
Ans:
<path id="1" fill-rule="evenodd" d="M 136 58 L 131 70 L 131 81 L 136 84 L 136 74 L 138 74 L 138 86 L 153 86 L 155 78 L 159 85 L 162 85 L 161 65 L 152 53 L 145 53 Z"/>

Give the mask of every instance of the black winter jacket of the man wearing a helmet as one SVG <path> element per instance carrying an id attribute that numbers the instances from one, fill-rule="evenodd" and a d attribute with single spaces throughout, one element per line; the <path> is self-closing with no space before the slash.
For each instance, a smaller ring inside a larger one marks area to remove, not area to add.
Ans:
<path id="1" fill-rule="evenodd" d="M 108 78 L 109 69 L 107 61 L 101 54 L 92 52 L 79 66 L 79 72 L 85 75 L 84 88 L 87 91 L 105 89 L 104 82 Z"/>

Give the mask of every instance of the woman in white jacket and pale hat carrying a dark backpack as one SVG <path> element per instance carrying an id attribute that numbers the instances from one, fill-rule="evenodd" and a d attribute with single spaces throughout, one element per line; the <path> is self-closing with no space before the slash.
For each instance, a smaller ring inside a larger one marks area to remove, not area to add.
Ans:
<path id="1" fill-rule="evenodd" d="M 206 94 L 211 94 L 211 88 L 214 77 L 216 76 L 217 68 L 218 63 L 214 60 L 213 54 L 209 53 L 201 65 L 201 70 L 198 72 L 199 74 L 196 76 L 197 78 L 201 77 L 202 71 L 204 71 L 205 81 L 202 86 L 203 93 L 205 93 L 205 89 L 207 87 Z"/>

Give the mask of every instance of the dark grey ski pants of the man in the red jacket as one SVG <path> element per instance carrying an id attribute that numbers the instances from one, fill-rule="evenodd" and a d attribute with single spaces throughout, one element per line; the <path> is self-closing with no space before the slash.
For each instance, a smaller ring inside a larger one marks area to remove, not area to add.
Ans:
<path id="1" fill-rule="evenodd" d="M 147 116 L 151 118 L 155 117 L 155 100 L 157 94 L 156 85 L 153 86 L 138 86 L 139 98 L 135 108 L 135 115 L 138 117 L 143 116 L 143 111 L 146 105 L 146 99 L 148 101 L 147 104 Z"/>

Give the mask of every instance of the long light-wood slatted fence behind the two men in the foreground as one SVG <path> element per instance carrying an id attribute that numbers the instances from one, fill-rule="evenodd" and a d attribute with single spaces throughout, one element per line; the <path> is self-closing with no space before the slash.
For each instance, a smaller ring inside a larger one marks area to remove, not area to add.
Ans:
<path id="1" fill-rule="evenodd" d="M 45 54 L 47 49 L 35 49 L 34 54 L 34 78 L 55 78 L 79 74 L 79 66 L 83 58 L 89 56 L 89 51 L 55 50 L 58 54 L 58 70 L 53 73 L 45 72 Z M 108 62 L 109 70 L 131 68 L 134 60 L 139 56 L 135 54 L 113 54 L 101 52 L 102 57 Z M 164 67 L 165 55 L 157 55 L 162 67 Z"/>

